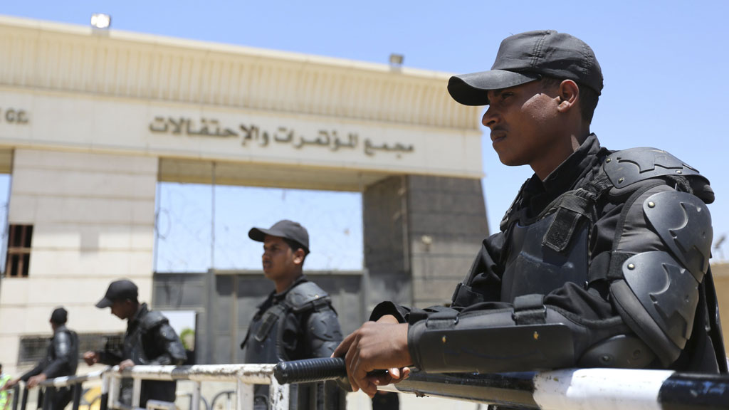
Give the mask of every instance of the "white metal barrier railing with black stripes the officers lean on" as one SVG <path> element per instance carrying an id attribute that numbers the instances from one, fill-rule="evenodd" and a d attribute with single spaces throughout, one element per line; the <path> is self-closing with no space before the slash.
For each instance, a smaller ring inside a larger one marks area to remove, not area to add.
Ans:
<path id="1" fill-rule="evenodd" d="M 318 359 L 317 364 L 321 364 Z M 330 361 L 330 374 L 300 360 L 273 364 L 145 366 L 136 365 L 119 372 L 107 368 L 83 376 L 66 376 L 43 382 L 44 387 L 75 386 L 74 410 L 79 408 L 82 383 L 102 380 L 101 410 L 138 409 L 142 380 L 189 380 L 193 382 L 192 406 L 200 410 L 202 382 L 235 382 L 236 409 L 252 409 L 253 385 L 270 384 L 269 409 L 289 409 L 289 385 L 286 382 L 313 382 L 332 379 L 341 373 L 336 360 Z M 289 365 L 289 369 L 285 365 Z M 289 371 L 293 370 L 293 371 Z M 297 371 L 302 370 L 297 373 Z M 122 377 L 133 379 L 131 406 L 120 403 Z M 297 379 L 299 378 L 299 379 Z M 381 390 L 430 395 L 461 401 L 499 404 L 521 409 L 550 410 L 647 410 L 703 409 L 729 410 L 729 376 L 726 374 L 689 374 L 660 370 L 610 368 L 562 369 L 512 374 L 423 374 L 415 372 L 399 384 Z M 15 396 L 17 398 L 17 395 Z M 26 410 L 27 390 L 23 395 Z M 50 409 L 44 406 L 46 410 Z M 148 408 L 169 410 L 165 403 L 148 403 Z M 13 407 L 17 410 L 17 403 Z M 53 409 L 56 410 L 56 409 Z M 212 410 L 212 409 L 211 409 Z"/>

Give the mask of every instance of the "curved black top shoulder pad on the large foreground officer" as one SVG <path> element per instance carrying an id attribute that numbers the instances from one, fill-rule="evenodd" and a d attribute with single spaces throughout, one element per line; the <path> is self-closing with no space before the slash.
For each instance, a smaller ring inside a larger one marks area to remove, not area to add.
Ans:
<path id="1" fill-rule="evenodd" d="M 604 164 L 605 174 L 615 187 L 622 188 L 644 179 L 677 175 L 696 176 L 709 181 L 682 160 L 666 151 L 655 148 L 631 148 L 608 155 Z"/>

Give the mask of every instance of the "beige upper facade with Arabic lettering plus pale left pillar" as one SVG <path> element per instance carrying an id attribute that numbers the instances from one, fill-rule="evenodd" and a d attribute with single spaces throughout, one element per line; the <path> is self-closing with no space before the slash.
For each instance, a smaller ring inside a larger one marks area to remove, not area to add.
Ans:
<path id="1" fill-rule="evenodd" d="M 477 181 L 480 109 L 452 101 L 448 77 L 0 17 L 8 220 L 34 228 L 28 276 L 0 278 L 4 370 L 17 371 L 21 338 L 50 335 L 55 306 L 79 333 L 116 333 L 125 323 L 93 307 L 112 279 L 152 298 L 159 181 L 214 173 L 218 184 L 349 191 L 397 175 Z"/>

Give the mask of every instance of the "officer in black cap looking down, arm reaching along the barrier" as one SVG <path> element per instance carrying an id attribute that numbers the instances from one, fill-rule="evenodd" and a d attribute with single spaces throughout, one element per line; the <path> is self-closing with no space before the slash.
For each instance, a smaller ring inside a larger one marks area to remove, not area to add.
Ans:
<path id="1" fill-rule="evenodd" d="M 112 308 L 112 314 L 127 320 L 122 350 L 85 352 L 88 365 L 104 363 L 119 365 L 120 370 L 133 365 L 181 365 L 187 358 L 182 341 L 160 312 L 150 311 L 147 303 L 139 303 L 136 285 L 128 280 L 117 280 L 109 285 L 106 295 L 96 307 Z M 175 401 L 176 382 L 144 381 L 141 384 L 140 407 L 147 406 L 147 400 Z M 122 382 L 122 403 L 131 403 L 132 382 Z"/>

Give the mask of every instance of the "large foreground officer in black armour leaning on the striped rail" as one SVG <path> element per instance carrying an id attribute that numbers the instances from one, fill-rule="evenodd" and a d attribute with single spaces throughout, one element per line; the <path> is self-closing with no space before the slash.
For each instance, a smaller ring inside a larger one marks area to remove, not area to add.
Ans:
<path id="1" fill-rule="evenodd" d="M 372 395 L 409 365 L 727 371 L 709 181 L 665 151 L 601 147 L 590 122 L 602 88 L 593 50 L 556 31 L 507 37 L 490 71 L 451 77 L 453 99 L 488 105 L 499 160 L 534 175 L 449 308 L 381 303 L 343 341 L 355 389 Z"/>

